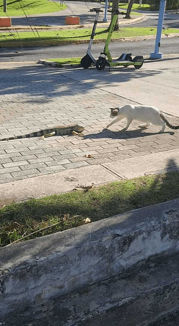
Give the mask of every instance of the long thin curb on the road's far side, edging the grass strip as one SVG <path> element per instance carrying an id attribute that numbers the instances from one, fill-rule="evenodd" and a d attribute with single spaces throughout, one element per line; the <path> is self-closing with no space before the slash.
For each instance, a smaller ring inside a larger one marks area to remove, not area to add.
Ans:
<path id="1" fill-rule="evenodd" d="M 179 37 L 179 33 L 162 34 L 162 38 Z M 111 38 L 111 42 L 133 42 L 145 41 L 156 38 L 156 35 L 132 36 Z M 67 45 L 67 44 L 88 44 L 90 40 L 74 40 L 74 41 L 35 41 L 35 42 L 0 42 L 0 47 L 14 46 L 44 46 L 44 45 Z M 93 44 L 105 43 L 106 38 L 94 39 Z"/>

